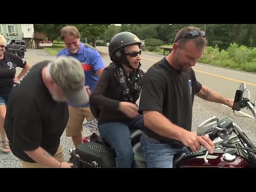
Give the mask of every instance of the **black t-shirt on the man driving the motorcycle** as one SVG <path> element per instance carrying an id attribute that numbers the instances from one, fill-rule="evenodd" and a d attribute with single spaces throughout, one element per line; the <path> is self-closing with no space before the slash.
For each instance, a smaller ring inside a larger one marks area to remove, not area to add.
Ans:
<path id="1" fill-rule="evenodd" d="M 144 76 L 139 113 L 156 110 L 174 124 L 191 131 L 194 95 L 201 88 L 193 69 L 183 73 L 174 69 L 164 58 L 151 66 Z M 146 126 L 143 131 L 161 143 L 183 146 L 180 141 L 162 137 Z"/>

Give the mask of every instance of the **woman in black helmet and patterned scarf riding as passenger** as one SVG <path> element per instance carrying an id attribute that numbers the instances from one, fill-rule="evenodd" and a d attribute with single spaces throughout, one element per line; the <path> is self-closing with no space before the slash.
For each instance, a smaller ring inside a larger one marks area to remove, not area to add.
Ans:
<path id="1" fill-rule="evenodd" d="M 103 140 L 116 151 L 116 167 L 130 168 L 133 150 L 130 130 L 142 129 L 143 118 L 135 103 L 140 97 L 140 39 L 130 33 L 115 35 L 109 43 L 111 62 L 103 70 L 90 98 L 90 107 Z"/>

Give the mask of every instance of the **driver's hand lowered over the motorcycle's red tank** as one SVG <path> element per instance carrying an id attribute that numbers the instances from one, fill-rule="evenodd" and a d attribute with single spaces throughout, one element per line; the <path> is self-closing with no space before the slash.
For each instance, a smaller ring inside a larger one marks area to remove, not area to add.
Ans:
<path id="1" fill-rule="evenodd" d="M 181 142 L 191 148 L 194 152 L 201 149 L 201 146 L 205 147 L 210 154 L 213 154 L 213 149 L 215 148 L 212 140 L 206 135 L 197 136 L 195 132 L 186 131 L 183 135 Z"/>

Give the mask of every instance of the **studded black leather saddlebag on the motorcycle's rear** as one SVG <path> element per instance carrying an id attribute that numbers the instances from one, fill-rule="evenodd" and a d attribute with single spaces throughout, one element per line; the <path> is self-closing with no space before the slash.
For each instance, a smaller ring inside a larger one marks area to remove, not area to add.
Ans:
<path id="1" fill-rule="evenodd" d="M 114 168 L 115 150 L 98 142 L 86 142 L 77 146 L 69 162 L 73 168 Z"/>

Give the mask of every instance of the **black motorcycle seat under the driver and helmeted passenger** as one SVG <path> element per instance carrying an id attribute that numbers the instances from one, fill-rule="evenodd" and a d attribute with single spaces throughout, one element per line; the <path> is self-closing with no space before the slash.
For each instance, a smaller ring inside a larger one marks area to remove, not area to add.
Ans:
<path id="1" fill-rule="evenodd" d="M 134 168 L 147 168 L 147 163 L 144 155 L 141 153 L 140 150 L 140 142 L 136 143 L 133 147 L 134 152 Z M 180 160 L 186 155 L 186 153 L 176 154 L 173 157 L 173 167 L 177 167 Z"/>

